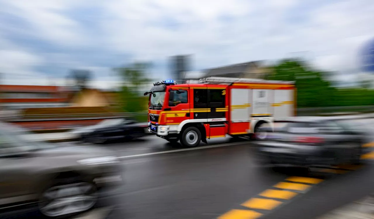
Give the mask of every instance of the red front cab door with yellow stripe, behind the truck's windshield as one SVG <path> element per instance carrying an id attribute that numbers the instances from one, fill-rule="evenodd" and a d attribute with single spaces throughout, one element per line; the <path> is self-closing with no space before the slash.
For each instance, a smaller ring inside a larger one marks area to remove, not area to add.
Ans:
<path id="1" fill-rule="evenodd" d="M 169 108 L 164 109 L 166 124 L 177 125 L 190 118 L 190 93 L 188 90 L 188 87 L 169 90 Z"/>

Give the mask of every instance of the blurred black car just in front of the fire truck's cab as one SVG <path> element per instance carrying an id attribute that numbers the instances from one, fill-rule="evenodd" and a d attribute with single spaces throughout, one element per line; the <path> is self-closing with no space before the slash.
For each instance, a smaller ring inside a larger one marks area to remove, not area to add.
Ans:
<path id="1" fill-rule="evenodd" d="M 134 140 L 146 135 L 148 125 L 127 118 L 104 120 L 94 126 L 83 127 L 72 133 L 83 142 L 104 144 L 112 140 Z"/>

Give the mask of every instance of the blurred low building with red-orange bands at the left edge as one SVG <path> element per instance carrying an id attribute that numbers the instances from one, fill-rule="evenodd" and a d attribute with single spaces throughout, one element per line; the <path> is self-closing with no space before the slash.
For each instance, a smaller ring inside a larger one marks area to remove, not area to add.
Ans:
<path id="1" fill-rule="evenodd" d="M 60 86 L 0 85 L 0 93 L 3 110 L 69 105 Z"/>

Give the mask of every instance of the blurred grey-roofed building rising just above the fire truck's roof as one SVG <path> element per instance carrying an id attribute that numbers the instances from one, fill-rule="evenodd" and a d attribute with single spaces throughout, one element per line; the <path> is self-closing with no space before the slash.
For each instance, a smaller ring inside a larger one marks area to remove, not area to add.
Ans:
<path id="1" fill-rule="evenodd" d="M 264 67 L 260 61 L 245 62 L 205 70 L 205 77 L 234 77 L 263 79 L 270 74 L 269 68 Z"/>

